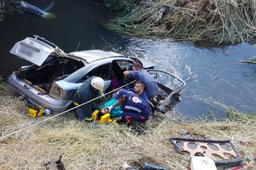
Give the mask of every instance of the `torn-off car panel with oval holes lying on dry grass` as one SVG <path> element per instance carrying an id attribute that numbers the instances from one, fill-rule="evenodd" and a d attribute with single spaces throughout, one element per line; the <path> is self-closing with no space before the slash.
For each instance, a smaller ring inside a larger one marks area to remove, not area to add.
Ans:
<path id="1" fill-rule="evenodd" d="M 174 150 L 194 156 L 204 156 L 213 159 L 216 166 L 235 166 L 241 164 L 242 158 L 230 140 L 208 140 L 189 138 L 170 138 L 175 145 Z"/>

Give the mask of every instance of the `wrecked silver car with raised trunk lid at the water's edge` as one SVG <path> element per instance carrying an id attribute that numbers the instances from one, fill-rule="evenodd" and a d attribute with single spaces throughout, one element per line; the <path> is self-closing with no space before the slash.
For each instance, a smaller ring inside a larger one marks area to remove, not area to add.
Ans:
<path id="1" fill-rule="evenodd" d="M 13 72 L 9 77 L 9 88 L 34 105 L 58 112 L 73 105 L 76 89 L 88 77 L 102 77 L 105 91 L 111 84 L 112 71 L 121 80 L 123 71 L 137 59 L 101 50 L 67 54 L 52 42 L 35 35 L 17 42 L 10 53 L 34 64 Z M 151 109 L 166 113 L 180 102 L 179 92 L 186 83 L 171 73 L 153 69 L 154 63 L 139 59 L 159 85 L 157 98 L 150 102 Z"/>

